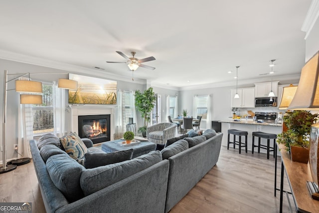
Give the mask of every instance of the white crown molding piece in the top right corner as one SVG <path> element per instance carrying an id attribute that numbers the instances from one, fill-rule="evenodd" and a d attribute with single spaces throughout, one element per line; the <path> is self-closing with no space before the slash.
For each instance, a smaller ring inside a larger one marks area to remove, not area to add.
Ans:
<path id="1" fill-rule="evenodd" d="M 310 7 L 308 9 L 306 18 L 304 20 L 303 26 L 301 27 L 301 30 L 306 32 L 305 40 L 308 38 L 318 17 L 319 17 L 319 0 L 312 0 Z"/>

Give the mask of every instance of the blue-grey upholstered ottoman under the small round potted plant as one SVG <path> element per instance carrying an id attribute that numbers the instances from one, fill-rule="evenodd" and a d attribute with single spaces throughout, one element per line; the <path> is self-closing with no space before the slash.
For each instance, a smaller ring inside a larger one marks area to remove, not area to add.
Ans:
<path id="1" fill-rule="evenodd" d="M 102 151 L 106 153 L 110 153 L 110 152 L 133 149 L 134 151 L 133 151 L 132 158 L 136 158 L 138 156 L 147 154 L 156 149 L 156 144 L 150 141 L 141 141 L 140 143 L 132 144 L 130 146 L 121 145 L 120 143 L 123 141 L 124 140 L 119 139 L 119 140 L 104 142 L 102 144 Z"/>

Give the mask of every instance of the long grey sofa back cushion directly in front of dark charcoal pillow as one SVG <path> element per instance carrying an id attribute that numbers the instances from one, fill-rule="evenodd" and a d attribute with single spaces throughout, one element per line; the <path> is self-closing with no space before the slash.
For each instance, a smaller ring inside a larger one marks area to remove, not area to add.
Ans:
<path id="1" fill-rule="evenodd" d="M 80 178 L 81 188 L 85 196 L 90 195 L 160 161 L 162 161 L 160 151 L 152 151 L 130 161 L 84 170 Z"/>

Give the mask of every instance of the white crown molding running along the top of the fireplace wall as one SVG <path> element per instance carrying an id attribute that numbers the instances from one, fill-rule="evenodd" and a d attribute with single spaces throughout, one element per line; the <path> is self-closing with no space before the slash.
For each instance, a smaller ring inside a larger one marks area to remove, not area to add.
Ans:
<path id="1" fill-rule="evenodd" d="M 132 82 L 132 77 L 120 76 L 108 71 L 97 70 L 94 68 L 86 68 L 77 65 L 72 65 L 68 63 L 62 63 L 58 61 L 23 55 L 20 53 L 5 51 L 0 49 L 0 59 L 15 61 L 25 64 L 32 64 L 37 66 L 43 66 L 53 69 L 60 69 L 67 72 L 75 73 L 75 74 L 84 74 L 93 73 L 96 77 L 105 78 L 107 76 L 108 79 L 121 80 L 126 82 Z M 134 83 L 138 84 L 146 84 L 146 80 L 134 78 Z"/>

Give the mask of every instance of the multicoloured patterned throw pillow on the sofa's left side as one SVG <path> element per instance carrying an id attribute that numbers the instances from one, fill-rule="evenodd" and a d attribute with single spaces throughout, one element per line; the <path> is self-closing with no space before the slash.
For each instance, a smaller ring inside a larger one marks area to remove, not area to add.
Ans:
<path id="1" fill-rule="evenodd" d="M 88 148 L 75 132 L 60 138 L 60 142 L 65 152 L 75 160 L 83 158 L 84 154 L 88 152 Z"/>

